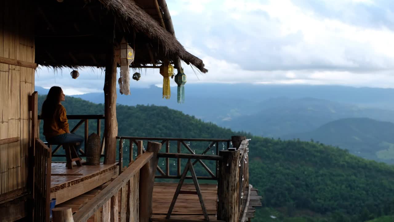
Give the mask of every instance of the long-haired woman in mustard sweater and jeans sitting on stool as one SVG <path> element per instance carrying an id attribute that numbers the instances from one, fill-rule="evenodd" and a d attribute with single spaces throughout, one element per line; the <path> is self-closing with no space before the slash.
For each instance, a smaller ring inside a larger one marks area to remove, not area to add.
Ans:
<path id="1" fill-rule="evenodd" d="M 78 152 L 84 137 L 71 134 L 67 122 L 66 109 L 61 105 L 64 101 L 63 90 L 60 87 L 51 87 L 41 109 L 41 118 L 44 120 L 43 134 L 50 144 L 77 143 L 75 147 Z M 76 156 L 72 156 L 74 158 Z"/>

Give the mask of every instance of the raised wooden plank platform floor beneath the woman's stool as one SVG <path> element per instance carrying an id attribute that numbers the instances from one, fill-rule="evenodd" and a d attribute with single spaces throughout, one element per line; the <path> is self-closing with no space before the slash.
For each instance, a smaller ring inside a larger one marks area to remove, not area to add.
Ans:
<path id="1" fill-rule="evenodd" d="M 56 198 L 56 203 L 84 194 L 118 174 L 117 163 L 67 169 L 65 163 L 53 162 L 51 167 L 51 198 Z"/>

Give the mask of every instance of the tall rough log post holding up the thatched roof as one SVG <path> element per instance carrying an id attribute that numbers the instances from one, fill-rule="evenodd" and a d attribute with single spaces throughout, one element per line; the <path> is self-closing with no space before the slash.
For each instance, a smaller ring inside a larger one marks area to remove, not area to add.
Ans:
<path id="1" fill-rule="evenodd" d="M 104 115 L 105 115 L 105 152 L 104 164 L 115 163 L 116 136 L 118 123 L 116 120 L 116 66 L 115 46 L 109 50 L 106 57 L 105 80 L 104 80 Z"/>

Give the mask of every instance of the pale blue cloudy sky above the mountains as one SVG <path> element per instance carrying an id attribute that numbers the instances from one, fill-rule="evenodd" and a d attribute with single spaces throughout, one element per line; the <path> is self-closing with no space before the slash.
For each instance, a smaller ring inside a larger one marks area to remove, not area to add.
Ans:
<path id="1" fill-rule="evenodd" d="M 394 87 L 392 0 L 167 0 L 167 5 L 178 41 L 209 70 L 199 73 L 183 64 L 186 84 Z M 39 68 L 35 85 L 58 85 L 67 95 L 102 92 L 104 70 L 79 70 L 78 79 L 70 72 Z M 157 69 L 141 74 L 138 82 L 130 81 L 131 92 L 162 85 Z"/>

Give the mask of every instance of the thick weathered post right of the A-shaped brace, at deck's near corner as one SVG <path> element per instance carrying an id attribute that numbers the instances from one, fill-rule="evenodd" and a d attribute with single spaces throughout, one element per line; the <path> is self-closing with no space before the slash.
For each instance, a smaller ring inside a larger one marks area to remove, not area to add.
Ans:
<path id="1" fill-rule="evenodd" d="M 240 151 L 219 151 L 223 160 L 219 166 L 217 220 L 238 222 L 240 197 Z M 227 166 L 227 164 L 229 166 Z"/>

